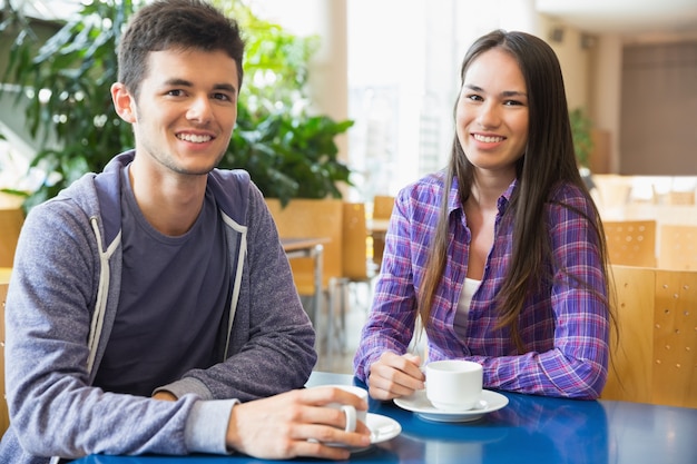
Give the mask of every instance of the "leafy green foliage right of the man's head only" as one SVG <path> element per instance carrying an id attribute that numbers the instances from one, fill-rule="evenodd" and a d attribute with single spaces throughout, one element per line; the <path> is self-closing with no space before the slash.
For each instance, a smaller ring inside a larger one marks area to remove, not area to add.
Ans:
<path id="1" fill-rule="evenodd" d="M 223 167 L 244 167 L 267 197 L 341 198 L 351 170 L 338 158 L 336 136 L 353 121 L 335 121 L 307 110 L 308 62 L 316 36 L 297 37 L 259 19 L 244 2 L 218 0 L 237 18 L 246 41 L 245 82 L 237 128 Z"/>

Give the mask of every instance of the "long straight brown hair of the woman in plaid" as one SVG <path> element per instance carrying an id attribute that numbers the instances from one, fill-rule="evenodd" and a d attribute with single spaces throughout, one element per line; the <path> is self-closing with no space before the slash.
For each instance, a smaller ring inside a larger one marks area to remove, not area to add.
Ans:
<path id="1" fill-rule="evenodd" d="M 554 186 L 560 182 L 576 185 L 592 205 L 592 217 L 569 205 L 562 206 L 587 217 L 603 263 L 606 295 L 610 295 L 607 247 L 598 209 L 576 162 L 563 78 L 554 51 L 543 40 L 524 32 L 493 31 L 477 40 L 464 57 L 461 68 L 463 82 L 470 63 L 493 48 L 510 53 L 518 61 L 526 80 L 529 103 L 526 155 L 517 162 L 518 186 L 504 213 L 512 215 L 514 225 L 511 265 L 497 298 L 499 327 L 510 328 L 519 353 L 523 353 L 518 318 L 526 297 L 536 285 L 552 278 L 546 267 L 546 263 L 549 264 L 552 259 L 547 223 L 540 219 L 544 218 L 544 205 L 550 200 Z M 455 134 L 445 176 L 441 214 L 419 297 L 419 312 L 424 327 L 429 324 L 434 295 L 445 268 L 449 245 L 448 196 L 453 179 L 458 179 L 458 194 L 464 205 L 471 195 L 473 176 L 474 168 L 464 155 Z M 600 297 L 605 299 L 605 296 Z M 609 304 L 608 308 L 611 313 Z"/>

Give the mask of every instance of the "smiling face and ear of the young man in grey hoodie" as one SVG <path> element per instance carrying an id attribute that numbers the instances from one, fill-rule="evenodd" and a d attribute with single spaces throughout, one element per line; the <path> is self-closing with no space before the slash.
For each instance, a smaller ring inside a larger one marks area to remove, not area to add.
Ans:
<path id="1" fill-rule="evenodd" d="M 126 97 L 119 115 L 132 124 L 137 156 L 155 169 L 204 175 L 227 150 L 238 91 L 237 65 L 223 51 L 153 51 L 137 101 Z"/>

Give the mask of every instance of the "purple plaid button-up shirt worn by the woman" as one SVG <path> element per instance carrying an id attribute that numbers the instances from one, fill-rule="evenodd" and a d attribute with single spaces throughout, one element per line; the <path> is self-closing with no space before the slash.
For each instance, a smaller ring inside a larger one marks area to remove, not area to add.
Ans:
<path id="1" fill-rule="evenodd" d="M 553 282 L 542 282 L 538 293 L 526 300 L 519 317 L 526 353 L 519 355 L 509 330 L 495 327 L 497 309 L 492 305 L 511 260 L 513 224 L 503 211 L 517 181 L 499 198 L 495 239 L 482 283 L 472 297 L 464 338 L 455 333 L 454 317 L 467 276 L 470 230 L 454 184 L 449 197 L 448 261 L 426 332 L 429 361 L 475 361 L 484 366 L 485 388 L 597 398 L 606 382 L 609 355 L 602 263 L 588 220 L 560 203 L 592 217 L 591 205 L 570 185 L 560 186 L 547 204 L 556 265 L 546 265 L 552 269 Z M 354 359 L 355 375 L 364 382 L 371 364 L 385 351 L 408 351 L 443 188 L 440 172 L 408 186 L 396 197 L 373 307 Z M 588 283 L 591 290 L 569 276 Z"/>

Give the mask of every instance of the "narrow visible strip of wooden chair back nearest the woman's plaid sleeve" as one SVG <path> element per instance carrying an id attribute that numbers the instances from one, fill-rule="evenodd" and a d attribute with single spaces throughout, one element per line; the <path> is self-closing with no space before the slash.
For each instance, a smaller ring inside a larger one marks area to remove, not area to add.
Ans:
<path id="1" fill-rule="evenodd" d="M 367 278 L 367 227 L 365 226 L 365 204 L 344 203 L 343 206 L 343 273 L 342 277 L 352 280 Z"/>

